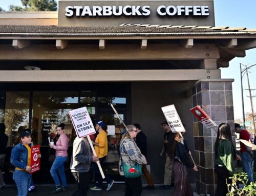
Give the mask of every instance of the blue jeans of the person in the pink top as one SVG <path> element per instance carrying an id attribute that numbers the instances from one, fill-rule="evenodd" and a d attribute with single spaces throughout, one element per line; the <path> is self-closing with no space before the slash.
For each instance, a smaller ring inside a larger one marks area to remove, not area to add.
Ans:
<path id="1" fill-rule="evenodd" d="M 60 186 L 59 177 L 61 180 L 61 185 L 67 186 L 66 176 L 64 172 L 64 163 L 66 160 L 67 160 L 67 157 L 56 156 L 52 164 L 50 172 L 54 180 L 55 186 Z M 59 173 L 59 177 L 57 172 Z"/>

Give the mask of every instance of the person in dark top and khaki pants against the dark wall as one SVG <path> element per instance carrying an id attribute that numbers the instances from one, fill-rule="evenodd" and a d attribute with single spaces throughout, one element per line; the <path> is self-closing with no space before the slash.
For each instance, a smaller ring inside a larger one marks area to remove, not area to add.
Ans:
<path id="1" fill-rule="evenodd" d="M 160 156 L 163 156 L 165 152 L 166 161 L 164 166 L 164 183 L 160 186 L 161 189 L 172 189 L 174 188 L 174 172 L 173 172 L 173 155 L 175 148 L 175 133 L 170 130 L 167 121 L 162 123 L 164 134 L 164 145 Z"/>

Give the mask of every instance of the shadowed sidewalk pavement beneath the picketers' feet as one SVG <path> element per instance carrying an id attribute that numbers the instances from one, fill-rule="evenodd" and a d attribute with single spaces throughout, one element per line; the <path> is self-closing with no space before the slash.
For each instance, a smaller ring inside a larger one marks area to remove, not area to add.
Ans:
<path id="1" fill-rule="evenodd" d="M 93 185 L 90 185 L 92 187 Z M 171 196 L 173 195 L 172 190 L 161 190 L 159 189 L 160 185 L 156 185 L 155 190 L 143 190 L 142 196 Z M 36 185 L 36 190 L 30 192 L 28 196 L 42 196 L 42 195 L 56 195 L 56 196 L 75 196 L 76 185 L 68 185 L 67 190 L 63 192 L 59 192 L 56 194 L 51 194 L 51 191 L 54 189 L 54 185 Z M 15 185 L 6 185 L 6 187 L 0 190 L 1 196 L 15 196 L 17 194 Z M 101 191 L 92 191 L 89 189 L 88 196 L 120 196 L 124 195 L 124 184 L 114 184 L 110 191 L 106 191 L 105 189 Z M 194 192 L 194 196 L 197 196 Z"/>

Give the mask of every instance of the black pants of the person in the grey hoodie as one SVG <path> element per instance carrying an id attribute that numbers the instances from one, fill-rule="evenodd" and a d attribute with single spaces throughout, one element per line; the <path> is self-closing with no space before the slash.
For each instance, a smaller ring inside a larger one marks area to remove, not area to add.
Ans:
<path id="1" fill-rule="evenodd" d="M 77 182 L 77 196 L 87 196 L 90 182 L 90 171 L 88 172 L 72 172 L 73 177 Z"/>

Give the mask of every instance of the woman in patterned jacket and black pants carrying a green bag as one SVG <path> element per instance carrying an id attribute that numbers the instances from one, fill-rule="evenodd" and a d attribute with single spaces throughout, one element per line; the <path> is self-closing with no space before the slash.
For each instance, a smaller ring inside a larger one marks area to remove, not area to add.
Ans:
<path id="1" fill-rule="evenodd" d="M 128 132 L 127 132 L 128 131 Z M 137 129 L 134 125 L 127 125 L 127 131 L 123 134 L 120 143 L 120 156 L 126 165 L 135 166 L 136 164 L 146 164 L 146 158 L 141 154 L 134 138 L 137 136 Z M 139 196 L 142 192 L 141 177 L 126 178 L 125 196 Z"/>

